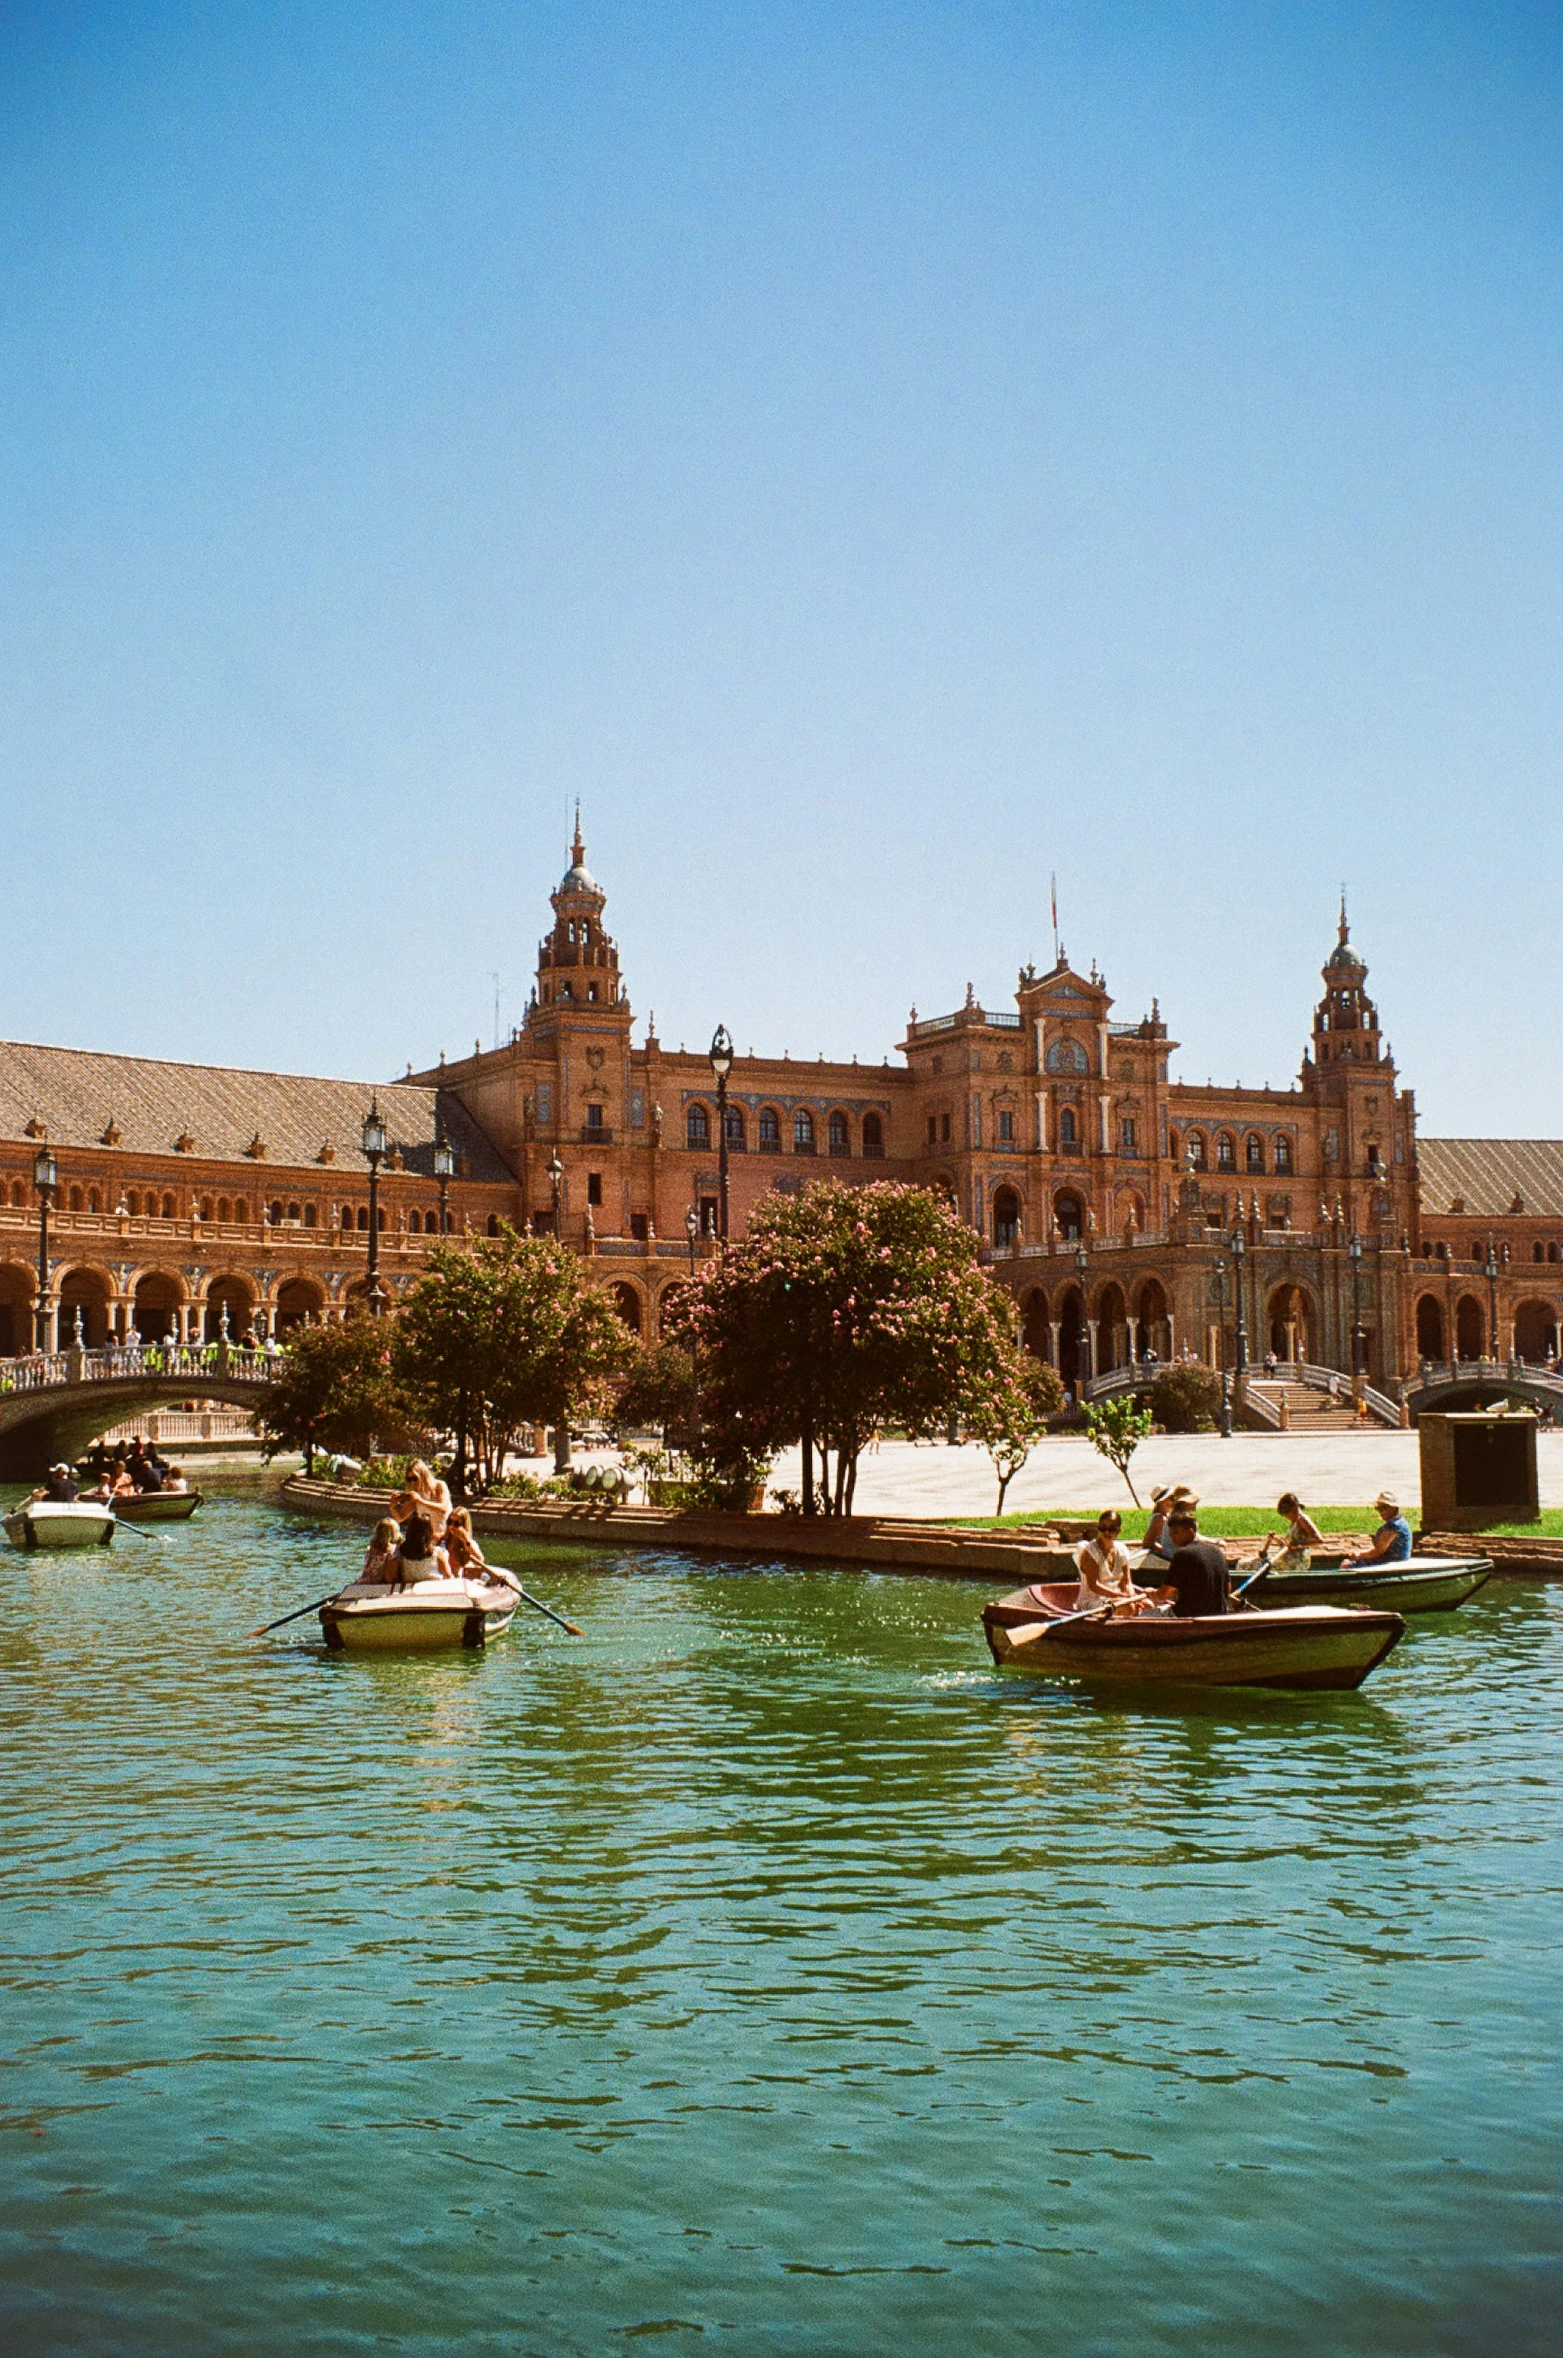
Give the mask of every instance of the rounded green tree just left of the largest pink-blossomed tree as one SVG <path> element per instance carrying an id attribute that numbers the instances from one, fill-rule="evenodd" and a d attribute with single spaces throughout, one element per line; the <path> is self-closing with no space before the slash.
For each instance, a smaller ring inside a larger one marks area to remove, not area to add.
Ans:
<path id="1" fill-rule="evenodd" d="M 391 1363 L 427 1420 L 455 1434 L 455 1481 L 497 1481 L 523 1424 L 566 1427 L 606 1398 L 629 1337 L 608 1295 L 554 1238 L 500 1226 L 434 1245 L 396 1320 Z"/>

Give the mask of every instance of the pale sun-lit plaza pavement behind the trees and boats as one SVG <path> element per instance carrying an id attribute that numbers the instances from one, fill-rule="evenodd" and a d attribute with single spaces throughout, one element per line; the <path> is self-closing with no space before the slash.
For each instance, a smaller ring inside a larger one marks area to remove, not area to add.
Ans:
<path id="1" fill-rule="evenodd" d="M 1563 1507 L 1563 1434 L 1542 1434 L 1537 1443 L 1542 1504 Z M 1212 1507 L 1273 1507 L 1282 1490 L 1297 1490 L 1304 1504 L 1358 1507 L 1379 1490 L 1393 1490 L 1403 1507 L 1414 1507 L 1417 1436 L 1370 1429 L 1365 1434 L 1153 1434 L 1134 1453 L 1129 1467 L 1134 1488 L 1148 1500 L 1153 1481 L 1186 1481 Z M 787 1450 L 771 1474 L 773 1488 L 797 1490 L 799 1457 Z M 997 1481 L 983 1450 L 974 1443 L 886 1441 L 858 1467 L 858 1514 L 992 1514 Z M 1099 1457 L 1089 1441 L 1061 1434 L 1040 1441 L 1021 1474 L 1009 1486 L 1007 1514 L 1094 1514 L 1099 1507 L 1127 1507 L 1122 1476 Z"/>

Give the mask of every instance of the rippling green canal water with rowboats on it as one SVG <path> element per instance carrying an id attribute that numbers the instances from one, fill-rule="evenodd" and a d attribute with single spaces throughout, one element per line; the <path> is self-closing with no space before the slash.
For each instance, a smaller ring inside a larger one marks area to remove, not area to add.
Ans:
<path id="1" fill-rule="evenodd" d="M 1563 1594 L 1139 1707 L 677 1556 L 245 1644 L 358 1547 L 0 1549 L 9 2351 L 1558 2346 Z"/>

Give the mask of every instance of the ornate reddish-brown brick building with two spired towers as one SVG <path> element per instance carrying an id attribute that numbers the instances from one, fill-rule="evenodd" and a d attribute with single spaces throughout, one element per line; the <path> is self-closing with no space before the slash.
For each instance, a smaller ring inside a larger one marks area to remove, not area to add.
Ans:
<path id="1" fill-rule="evenodd" d="M 653 1023 L 637 1042 L 580 830 L 552 910 L 512 1038 L 391 1085 L 0 1045 L 0 1351 L 35 1330 L 45 1141 L 59 1162 L 50 1337 L 78 1313 L 90 1342 L 339 1316 L 368 1276 L 372 1099 L 391 1139 L 391 1295 L 438 1233 L 446 1137 L 450 1229 L 559 1226 L 601 1264 L 625 1320 L 655 1332 L 714 1229 L 712 1068 Z M 1356 1332 L 1386 1387 L 1450 1344 L 1490 1351 L 1495 1313 L 1504 1356 L 1556 1353 L 1563 1144 L 1417 1141 L 1344 910 L 1323 986 L 1290 1089 L 1172 1080 L 1160 1007 L 1113 1021 L 1103 976 L 1066 957 L 1025 967 L 1011 1009 L 967 990 L 952 1014 L 912 1012 L 896 1063 L 738 1056 L 733 1233 L 761 1196 L 820 1167 L 938 1188 L 1014 1290 L 1030 1349 L 1068 1379 L 1146 1351 L 1231 1363 L 1238 1318 L 1254 1361 L 1273 1349 L 1348 1370 Z"/>

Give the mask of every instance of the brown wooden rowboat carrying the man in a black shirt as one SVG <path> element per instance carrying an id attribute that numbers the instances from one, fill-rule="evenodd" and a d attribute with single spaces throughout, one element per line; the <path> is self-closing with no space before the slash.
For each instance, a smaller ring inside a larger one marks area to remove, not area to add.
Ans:
<path id="1" fill-rule="evenodd" d="M 1405 1636 L 1398 1613 L 1285 1606 L 1275 1613 L 1066 1620 L 1075 1582 L 1014 1589 L 983 1606 L 1000 1669 L 1179 1686 L 1360 1686 Z"/>

